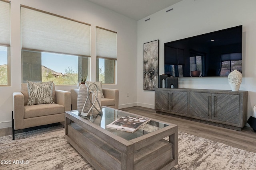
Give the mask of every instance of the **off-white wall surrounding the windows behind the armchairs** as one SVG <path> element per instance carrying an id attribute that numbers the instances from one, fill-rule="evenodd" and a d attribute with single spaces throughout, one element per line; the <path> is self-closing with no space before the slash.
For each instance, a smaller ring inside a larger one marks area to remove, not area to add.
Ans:
<path id="1" fill-rule="evenodd" d="M 137 21 L 85 0 L 11 1 L 11 86 L 0 87 L 0 128 L 11 127 L 12 93 L 20 90 L 21 41 L 20 4 L 91 24 L 91 80 L 96 77 L 95 26 L 117 32 L 117 83 L 103 88 L 119 89 L 121 107 L 136 106 L 137 100 Z M 77 86 L 56 86 L 68 90 Z M 129 97 L 126 97 L 129 93 Z"/>

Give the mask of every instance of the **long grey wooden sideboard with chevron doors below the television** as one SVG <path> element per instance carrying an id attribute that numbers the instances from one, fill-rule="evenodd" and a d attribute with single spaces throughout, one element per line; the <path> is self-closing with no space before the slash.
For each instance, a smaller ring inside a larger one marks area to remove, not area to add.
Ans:
<path id="1" fill-rule="evenodd" d="M 156 88 L 156 113 L 241 131 L 247 121 L 247 91 Z"/>

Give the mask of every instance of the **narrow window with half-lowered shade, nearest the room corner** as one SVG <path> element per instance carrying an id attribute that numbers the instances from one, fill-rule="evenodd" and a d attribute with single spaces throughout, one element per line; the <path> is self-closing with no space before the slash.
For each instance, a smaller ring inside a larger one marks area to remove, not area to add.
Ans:
<path id="1" fill-rule="evenodd" d="M 96 27 L 96 81 L 115 83 L 117 33 Z"/>

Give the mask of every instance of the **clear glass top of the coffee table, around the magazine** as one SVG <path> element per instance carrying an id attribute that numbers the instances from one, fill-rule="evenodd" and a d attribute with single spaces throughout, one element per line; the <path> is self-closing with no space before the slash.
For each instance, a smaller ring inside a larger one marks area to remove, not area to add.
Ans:
<path id="1" fill-rule="evenodd" d="M 77 110 L 70 111 L 70 112 L 74 113 L 75 115 L 78 115 Z M 107 131 L 110 131 L 111 133 L 114 133 L 115 135 L 122 137 L 123 139 L 126 139 L 128 141 L 168 126 L 168 124 L 150 120 L 148 123 L 142 125 L 134 133 L 120 131 L 120 130 L 116 130 L 116 129 L 110 129 L 110 128 L 106 127 L 106 125 L 112 123 L 113 121 L 119 119 L 120 117 L 124 117 L 127 115 L 134 116 L 134 114 L 128 113 L 125 111 L 112 109 L 110 107 L 102 107 L 102 112 L 92 112 L 88 116 L 80 115 L 80 117 L 90 121 L 91 123 L 94 123 L 95 125 L 98 125 L 102 129 L 106 129 Z"/>

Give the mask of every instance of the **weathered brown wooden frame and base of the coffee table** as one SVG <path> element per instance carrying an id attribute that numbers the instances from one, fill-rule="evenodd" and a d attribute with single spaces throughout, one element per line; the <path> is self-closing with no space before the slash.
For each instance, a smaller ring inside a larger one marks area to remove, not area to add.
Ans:
<path id="1" fill-rule="evenodd" d="M 65 116 L 66 139 L 96 170 L 170 170 L 178 163 L 178 126 L 126 141 L 81 117 Z M 170 141 L 162 139 L 163 135 Z"/>

